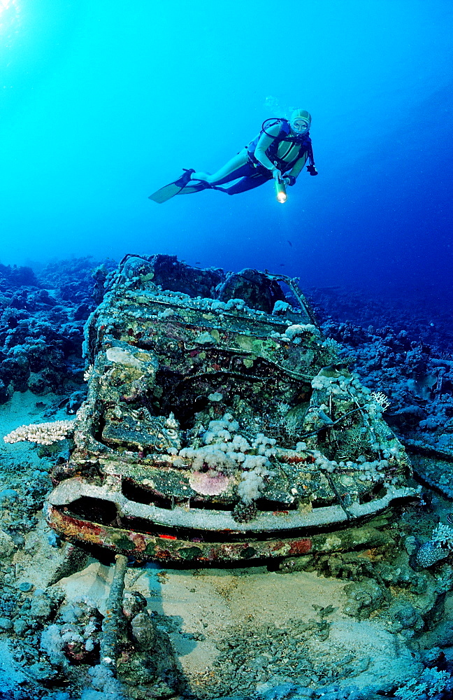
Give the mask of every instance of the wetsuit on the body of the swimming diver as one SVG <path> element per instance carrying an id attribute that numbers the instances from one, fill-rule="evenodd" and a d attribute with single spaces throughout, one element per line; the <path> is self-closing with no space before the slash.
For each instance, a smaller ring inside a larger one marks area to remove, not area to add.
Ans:
<path id="1" fill-rule="evenodd" d="M 301 172 L 305 161 L 308 158 L 308 151 L 304 144 L 292 141 L 280 140 L 276 152 L 272 155 L 273 161 L 268 158 L 273 150 L 275 138 L 280 134 L 280 124 L 277 123 L 262 133 L 259 137 L 256 148 L 254 142 L 245 146 L 234 158 L 217 170 L 213 175 L 198 173 L 203 175 L 201 181 L 189 181 L 187 186 L 180 191 L 180 195 L 189 195 L 194 192 L 201 192 L 210 188 L 220 190 L 228 195 L 237 195 L 246 190 L 259 187 L 268 180 L 273 179 L 272 170 L 275 167 L 285 174 L 295 178 Z M 271 134 L 271 135 L 269 135 Z M 276 163 L 276 166 L 275 166 Z M 205 179 L 206 178 L 206 179 Z M 237 182 L 236 182 L 237 181 Z M 226 183 L 233 183 L 229 187 L 220 187 Z"/>

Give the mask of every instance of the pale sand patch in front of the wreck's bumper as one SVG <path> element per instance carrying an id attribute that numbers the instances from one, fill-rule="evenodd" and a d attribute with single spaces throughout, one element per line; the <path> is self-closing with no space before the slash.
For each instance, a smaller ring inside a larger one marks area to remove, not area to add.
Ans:
<path id="1" fill-rule="evenodd" d="M 357 671 L 353 682 L 361 686 L 380 685 L 387 678 L 403 681 L 419 671 L 420 665 L 405 645 L 382 629 L 383 623 L 359 622 L 342 612 L 344 586 L 345 582 L 316 573 L 281 575 L 264 568 L 190 572 L 148 568 L 143 573 L 129 570 L 127 576 L 127 587 L 145 595 L 148 610 L 167 616 L 175 655 L 197 689 L 207 679 L 215 685 L 217 643 L 231 634 L 247 635 L 266 626 L 291 628 L 299 621 L 320 619 L 319 608 L 329 606 L 336 608 L 326 617 L 332 623 L 329 637 L 308 640 L 312 657 L 329 659 L 331 666 L 350 657 Z M 245 665 L 253 662 L 250 657 Z"/>

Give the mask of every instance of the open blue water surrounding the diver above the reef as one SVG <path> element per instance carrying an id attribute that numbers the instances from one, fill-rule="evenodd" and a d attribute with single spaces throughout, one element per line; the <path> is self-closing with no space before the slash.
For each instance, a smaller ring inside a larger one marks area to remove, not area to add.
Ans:
<path id="1" fill-rule="evenodd" d="M 451 294 L 450 0 L 1 0 L 3 264 L 171 253 Z M 319 176 L 155 204 L 294 106 Z"/>

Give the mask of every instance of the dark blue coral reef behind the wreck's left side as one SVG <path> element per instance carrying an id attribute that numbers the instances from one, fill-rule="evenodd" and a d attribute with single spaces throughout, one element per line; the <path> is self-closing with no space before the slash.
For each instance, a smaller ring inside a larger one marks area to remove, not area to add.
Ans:
<path id="1" fill-rule="evenodd" d="M 13 391 L 42 395 L 80 388 L 83 325 L 101 300 L 112 265 L 80 258 L 52 262 L 36 273 L 1 265 L 0 402 Z"/>

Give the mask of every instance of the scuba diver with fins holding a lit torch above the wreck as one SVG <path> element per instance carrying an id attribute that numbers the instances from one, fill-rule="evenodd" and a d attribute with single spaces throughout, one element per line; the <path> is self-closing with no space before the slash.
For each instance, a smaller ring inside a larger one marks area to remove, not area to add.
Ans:
<path id="1" fill-rule="evenodd" d="M 256 139 L 220 170 L 214 174 L 185 170 L 178 180 L 157 190 L 149 198 L 161 204 L 175 195 L 190 195 L 206 189 L 237 195 L 274 179 L 277 198 L 279 202 L 285 202 L 285 186 L 294 185 L 307 160 L 308 172 L 317 175 L 310 125 L 311 116 L 305 109 L 295 109 L 289 120 L 266 119 Z"/>

